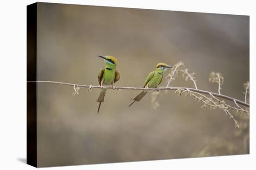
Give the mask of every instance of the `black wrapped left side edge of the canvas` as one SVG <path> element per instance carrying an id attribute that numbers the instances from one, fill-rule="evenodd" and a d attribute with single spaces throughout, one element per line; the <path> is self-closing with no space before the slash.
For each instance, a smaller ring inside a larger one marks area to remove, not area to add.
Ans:
<path id="1" fill-rule="evenodd" d="M 27 164 L 37 167 L 37 3 L 27 6 Z"/>

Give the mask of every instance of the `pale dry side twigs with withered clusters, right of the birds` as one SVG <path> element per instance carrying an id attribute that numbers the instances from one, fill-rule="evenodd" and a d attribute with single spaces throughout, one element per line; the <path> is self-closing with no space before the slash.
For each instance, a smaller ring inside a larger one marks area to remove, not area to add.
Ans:
<path id="1" fill-rule="evenodd" d="M 211 72 L 209 75 L 209 82 L 216 83 L 218 85 L 218 93 L 209 92 L 206 90 L 200 90 L 197 88 L 197 83 L 195 80 L 195 73 L 189 73 L 188 69 L 185 68 L 184 63 L 178 62 L 175 64 L 173 69 L 171 70 L 170 74 L 166 77 L 167 83 L 166 88 L 168 88 L 173 80 L 178 77 L 179 73 L 182 73 L 182 77 L 185 81 L 192 81 L 194 83 L 195 88 L 178 88 L 175 89 L 175 94 L 181 96 L 191 96 L 194 97 L 196 101 L 202 102 L 201 108 L 206 110 L 207 108 L 210 109 L 221 109 L 225 114 L 229 115 L 229 118 L 235 122 L 235 127 L 239 127 L 238 121 L 235 119 L 234 115 L 232 114 L 232 110 L 240 113 L 240 115 L 249 116 L 249 103 L 247 102 L 247 98 L 249 95 L 249 82 L 243 84 L 244 87 L 244 101 L 240 101 L 233 97 L 221 94 L 221 86 L 224 83 L 224 77 L 221 73 Z M 242 92 L 241 92 L 242 93 Z M 151 101 L 154 108 L 160 106 L 157 102 L 158 96 L 161 92 L 154 92 L 151 95 Z M 231 101 L 233 106 L 227 104 L 226 101 Z"/>

